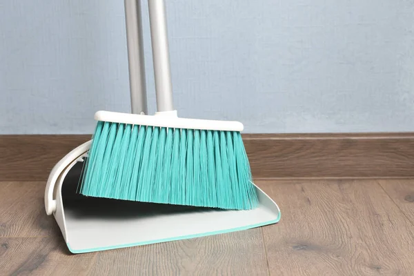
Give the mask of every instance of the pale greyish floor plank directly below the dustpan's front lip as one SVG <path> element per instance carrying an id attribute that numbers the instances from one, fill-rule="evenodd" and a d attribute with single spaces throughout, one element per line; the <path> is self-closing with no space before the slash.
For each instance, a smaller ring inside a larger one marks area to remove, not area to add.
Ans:
<path id="1" fill-rule="evenodd" d="M 133 260 L 133 262 L 131 262 Z M 97 255 L 93 275 L 268 275 L 260 228 Z"/>

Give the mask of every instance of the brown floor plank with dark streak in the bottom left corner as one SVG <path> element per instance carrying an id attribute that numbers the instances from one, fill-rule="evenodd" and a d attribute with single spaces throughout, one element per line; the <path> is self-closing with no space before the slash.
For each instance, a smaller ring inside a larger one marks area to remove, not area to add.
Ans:
<path id="1" fill-rule="evenodd" d="M 0 237 L 0 275 L 90 275 L 97 253 L 70 255 L 60 237 Z"/>

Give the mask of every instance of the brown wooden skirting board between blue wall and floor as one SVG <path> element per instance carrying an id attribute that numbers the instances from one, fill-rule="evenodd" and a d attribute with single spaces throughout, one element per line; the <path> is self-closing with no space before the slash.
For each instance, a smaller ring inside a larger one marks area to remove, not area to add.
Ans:
<path id="1" fill-rule="evenodd" d="M 0 135 L 0 181 L 46 181 L 91 135 Z M 414 133 L 246 134 L 253 177 L 414 177 Z"/>

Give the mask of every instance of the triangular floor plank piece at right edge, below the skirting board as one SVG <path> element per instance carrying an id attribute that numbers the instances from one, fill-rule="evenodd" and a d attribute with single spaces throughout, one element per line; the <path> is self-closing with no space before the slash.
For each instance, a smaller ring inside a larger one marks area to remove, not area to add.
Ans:
<path id="1" fill-rule="evenodd" d="M 380 179 L 378 182 L 414 225 L 414 179 Z"/>

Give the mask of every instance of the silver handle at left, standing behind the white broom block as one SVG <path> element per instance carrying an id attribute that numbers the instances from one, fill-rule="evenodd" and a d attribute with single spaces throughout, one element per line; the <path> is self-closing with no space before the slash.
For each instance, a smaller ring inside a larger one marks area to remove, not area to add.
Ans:
<path id="1" fill-rule="evenodd" d="M 125 0 L 124 3 L 131 109 L 134 114 L 148 114 L 141 4 L 140 0 Z"/>

